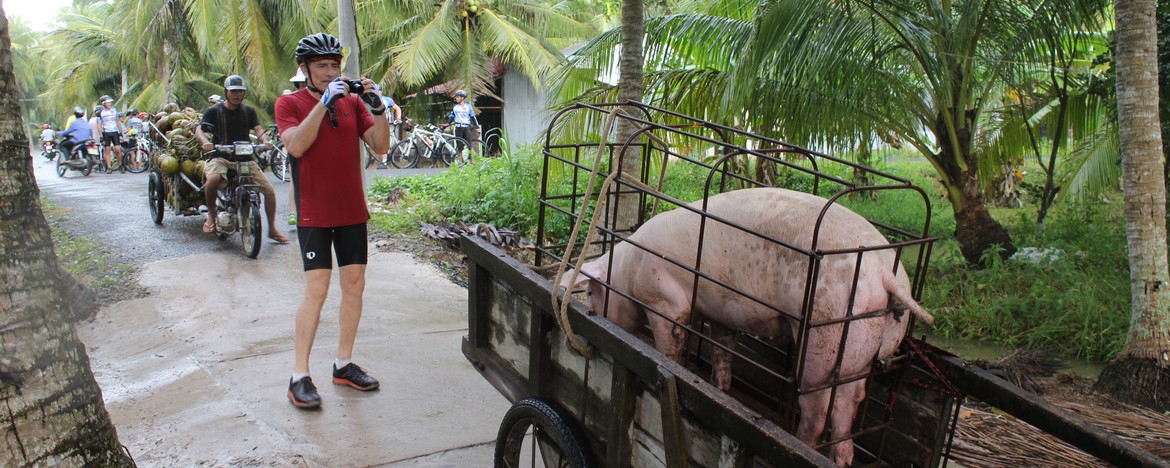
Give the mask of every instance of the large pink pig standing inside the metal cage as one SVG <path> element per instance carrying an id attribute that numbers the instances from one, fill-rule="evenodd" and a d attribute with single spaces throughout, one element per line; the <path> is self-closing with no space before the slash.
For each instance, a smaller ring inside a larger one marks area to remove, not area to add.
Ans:
<path id="1" fill-rule="evenodd" d="M 796 248 L 808 249 L 817 216 L 827 202 L 820 197 L 784 188 L 749 188 L 711 197 L 707 213 Z M 702 201 L 690 206 L 701 209 Z M 786 314 L 799 312 L 811 261 L 807 254 L 714 219 L 707 220 L 704 230 L 701 270 L 706 275 L 731 284 Z M 698 214 L 676 208 L 652 218 L 629 239 L 661 256 L 694 267 L 698 233 Z M 834 205 L 825 215 L 817 248 L 855 249 L 888 243 L 865 218 Z M 607 274 L 611 255 L 612 277 Z M 698 294 L 695 303 L 691 303 L 695 275 L 659 255 L 621 242 L 612 252 L 585 263 L 581 271 L 607 282 L 612 288 L 625 291 L 679 323 L 689 324 L 691 312 L 696 312 L 718 325 L 756 336 L 782 339 L 799 336 L 799 323 L 794 319 L 707 280 L 700 280 Z M 813 323 L 846 316 L 856 257 L 856 254 L 833 254 L 823 260 L 812 308 Z M 893 307 L 893 298 L 927 323 L 934 321 L 911 297 L 909 280 L 901 266 L 897 275 L 894 275 L 894 249 L 867 252 L 862 259 L 853 316 Z M 590 304 L 600 312 L 605 304 L 605 289 L 601 284 L 569 271 L 562 285 L 577 285 L 585 281 L 590 283 Z M 614 292 L 608 294 L 608 308 L 607 317 L 627 331 L 634 330 L 645 316 L 653 331 L 655 347 L 670 359 L 679 360 L 686 342 L 686 332 L 681 328 L 655 314 L 644 314 L 634 302 Z M 900 314 L 883 314 L 851 322 L 848 343 L 841 359 L 841 378 L 868 372 L 875 358 L 889 358 L 906 336 L 909 318 Z M 841 324 L 810 330 L 801 388 L 832 381 L 841 332 Z M 734 344 L 734 339 L 728 339 L 730 333 L 722 335 L 718 337 L 720 342 L 730 347 Z M 720 350 L 715 360 L 715 384 L 727 390 L 731 385 L 730 356 Z M 796 435 L 810 446 L 815 443 L 825 429 L 830 395 L 831 390 L 800 395 L 801 418 Z M 865 379 L 837 387 L 831 418 L 834 439 L 848 435 L 856 407 L 863 398 Z M 848 466 L 853 462 L 853 443 L 837 443 L 832 447 L 831 456 L 839 466 Z"/>

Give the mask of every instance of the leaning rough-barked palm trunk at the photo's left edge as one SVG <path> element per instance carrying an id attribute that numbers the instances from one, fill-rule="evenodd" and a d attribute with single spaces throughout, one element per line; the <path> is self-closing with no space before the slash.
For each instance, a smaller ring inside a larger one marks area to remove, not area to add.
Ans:
<path id="1" fill-rule="evenodd" d="M 58 291 L 16 103 L 8 21 L 0 8 L 0 439 L 4 464 L 133 466 Z"/>

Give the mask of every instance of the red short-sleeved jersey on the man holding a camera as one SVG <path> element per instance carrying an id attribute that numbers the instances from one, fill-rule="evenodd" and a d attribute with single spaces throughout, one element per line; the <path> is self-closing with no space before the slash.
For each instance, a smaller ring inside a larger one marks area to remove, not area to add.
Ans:
<path id="1" fill-rule="evenodd" d="M 276 131 L 284 133 L 300 125 L 318 103 L 308 89 L 281 96 L 276 99 Z M 317 139 L 291 160 L 297 226 L 338 227 L 370 220 L 362 190 L 359 138 L 373 126 L 373 117 L 353 95 L 333 105 L 337 128 L 325 116 Z"/>

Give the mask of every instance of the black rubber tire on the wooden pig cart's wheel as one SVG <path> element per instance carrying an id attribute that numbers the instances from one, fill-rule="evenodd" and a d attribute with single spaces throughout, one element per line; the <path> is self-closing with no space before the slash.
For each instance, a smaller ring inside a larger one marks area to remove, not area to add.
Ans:
<path id="1" fill-rule="evenodd" d="M 576 419 L 553 401 L 525 398 L 512 405 L 500 422 L 494 456 L 496 468 L 519 467 L 521 448 L 529 439 L 529 428 L 538 433 L 537 439 L 559 449 L 564 459 L 559 464 L 567 462 L 573 468 L 598 466 L 589 448 L 589 439 Z"/>

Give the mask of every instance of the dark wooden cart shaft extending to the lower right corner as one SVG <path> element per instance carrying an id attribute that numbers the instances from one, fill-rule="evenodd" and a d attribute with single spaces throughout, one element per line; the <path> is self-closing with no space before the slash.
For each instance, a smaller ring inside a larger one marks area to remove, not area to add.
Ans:
<path id="1" fill-rule="evenodd" d="M 1086 422 L 1035 394 L 1011 385 L 956 356 L 930 359 L 961 391 L 1119 467 L 1170 467 L 1170 462 Z"/>

